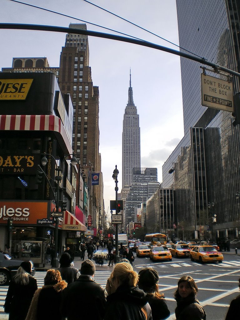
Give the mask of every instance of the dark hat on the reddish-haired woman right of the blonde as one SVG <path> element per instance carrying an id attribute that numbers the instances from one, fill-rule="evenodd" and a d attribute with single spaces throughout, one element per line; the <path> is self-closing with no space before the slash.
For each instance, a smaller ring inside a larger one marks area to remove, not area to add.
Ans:
<path id="1" fill-rule="evenodd" d="M 155 284 L 159 281 L 158 272 L 153 268 L 144 268 L 139 271 L 138 286 L 143 291 L 152 291 Z"/>

